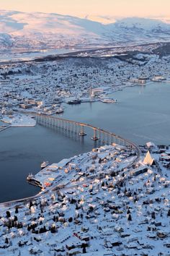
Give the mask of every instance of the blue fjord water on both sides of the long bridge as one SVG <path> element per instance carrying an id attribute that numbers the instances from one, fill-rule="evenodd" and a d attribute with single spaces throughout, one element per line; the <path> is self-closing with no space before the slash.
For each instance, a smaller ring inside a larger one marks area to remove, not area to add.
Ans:
<path id="1" fill-rule="evenodd" d="M 170 83 L 155 82 L 113 93 L 118 103 L 65 105 L 63 118 L 107 129 L 143 145 L 148 141 L 170 144 Z M 84 140 L 48 127 L 9 128 L 0 132 L 0 202 L 35 195 L 39 189 L 26 177 L 40 171 L 40 163 L 56 163 L 94 148 Z"/>

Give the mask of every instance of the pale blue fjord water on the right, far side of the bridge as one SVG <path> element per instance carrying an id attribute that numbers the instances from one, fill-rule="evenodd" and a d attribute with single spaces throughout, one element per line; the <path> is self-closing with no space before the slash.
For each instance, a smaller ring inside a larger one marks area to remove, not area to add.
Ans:
<path id="1" fill-rule="evenodd" d="M 170 143 L 170 82 L 128 87 L 110 96 L 118 102 L 66 106 L 63 117 L 94 124 L 138 145 Z"/>

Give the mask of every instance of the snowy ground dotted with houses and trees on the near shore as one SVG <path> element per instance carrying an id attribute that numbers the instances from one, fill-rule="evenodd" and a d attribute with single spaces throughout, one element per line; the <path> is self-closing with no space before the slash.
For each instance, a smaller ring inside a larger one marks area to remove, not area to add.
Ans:
<path id="1" fill-rule="evenodd" d="M 143 163 L 147 150 L 133 171 L 133 152 L 118 145 L 46 168 L 47 179 L 68 181 L 58 187 L 56 176 L 35 200 L 1 204 L 0 253 L 169 255 L 170 174 L 159 160 L 169 148 L 150 148 L 154 166 Z"/>

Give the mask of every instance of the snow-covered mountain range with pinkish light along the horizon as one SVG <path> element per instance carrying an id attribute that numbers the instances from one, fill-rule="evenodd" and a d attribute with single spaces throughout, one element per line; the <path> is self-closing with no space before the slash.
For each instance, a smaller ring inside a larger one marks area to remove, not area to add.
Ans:
<path id="1" fill-rule="evenodd" d="M 101 17 L 107 20 L 107 17 Z M 125 18 L 104 24 L 61 14 L 0 11 L 0 46 L 66 47 L 169 40 L 166 20 Z M 108 17 L 110 20 L 110 18 Z M 96 19 L 97 20 L 97 19 Z"/>

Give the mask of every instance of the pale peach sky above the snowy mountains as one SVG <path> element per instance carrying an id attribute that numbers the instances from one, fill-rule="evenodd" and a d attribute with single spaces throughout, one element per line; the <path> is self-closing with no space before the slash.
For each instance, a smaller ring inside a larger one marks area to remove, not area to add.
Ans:
<path id="1" fill-rule="evenodd" d="M 0 0 L 0 9 L 55 12 L 77 17 L 168 17 L 170 0 Z"/>

